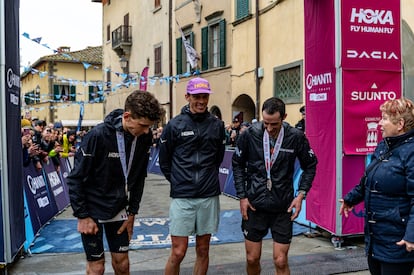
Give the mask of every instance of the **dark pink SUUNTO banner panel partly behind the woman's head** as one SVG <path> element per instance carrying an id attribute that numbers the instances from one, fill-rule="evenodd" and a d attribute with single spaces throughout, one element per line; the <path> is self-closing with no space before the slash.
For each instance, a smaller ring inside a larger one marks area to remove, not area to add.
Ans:
<path id="1" fill-rule="evenodd" d="M 401 97 L 401 73 L 344 70 L 342 76 L 344 153 L 372 153 L 381 140 L 379 106 Z"/>

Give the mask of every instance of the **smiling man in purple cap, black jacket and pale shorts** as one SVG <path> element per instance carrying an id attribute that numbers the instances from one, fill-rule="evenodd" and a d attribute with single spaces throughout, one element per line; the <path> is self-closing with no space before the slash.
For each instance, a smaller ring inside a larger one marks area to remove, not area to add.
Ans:
<path id="1" fill-rule="evenodd" d="M 208 270 L 210 238 L 219 224 L 218 175 L 225 151 L 224 124 L 207 109 L 211 93 L 207 80 L 191 79 L 185 94 L 188 105 L 168 122 L 160 138 L 159 163 L 172 198 L 172 246 L 165 274 L 179 274 L 192 235 L 197 255 L 194 274 Z"/>

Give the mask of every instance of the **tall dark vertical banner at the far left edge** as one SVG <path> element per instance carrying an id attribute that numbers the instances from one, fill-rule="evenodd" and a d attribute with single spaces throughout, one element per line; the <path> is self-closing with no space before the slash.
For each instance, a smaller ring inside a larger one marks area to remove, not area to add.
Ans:
<path id="1" fill-rule="evenodd" d="M 0 263 L 13 261 L 23 247 L 25 237 L 21 179 L 19 3 L 0 0 Z"/>

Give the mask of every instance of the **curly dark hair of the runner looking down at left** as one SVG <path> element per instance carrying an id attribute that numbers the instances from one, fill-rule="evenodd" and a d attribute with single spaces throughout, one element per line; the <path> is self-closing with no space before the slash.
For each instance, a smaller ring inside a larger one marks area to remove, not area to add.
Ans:
<path id="1" fill-rule="evenodd" d="M 125 100 L 125 111 L 131 113 L 133 118 L 147 118 L 159 121 L 165 111 L 153 94 L 135 90 Z"/>

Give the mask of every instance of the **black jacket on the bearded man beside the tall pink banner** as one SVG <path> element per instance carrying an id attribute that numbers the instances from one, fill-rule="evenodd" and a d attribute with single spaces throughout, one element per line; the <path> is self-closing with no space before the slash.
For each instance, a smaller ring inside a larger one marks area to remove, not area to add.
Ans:
<path id="1" fill-rule="evenodd" d="M 318 163 L 304 133 L 283 123 L 284 137 L 279 155 L 270 175 L 271 191 L 267 189 L 267 176 L 263 152 L 264 126 L 254 123 L 237 139 L 232 165 L 234 184 L 240 198 L 248 198 L 257 209 L 285 212 L 294 198 L 293 173 L 295 160 L 299 159 L 303 170 L 299 190 L 309 191 Z"/>

